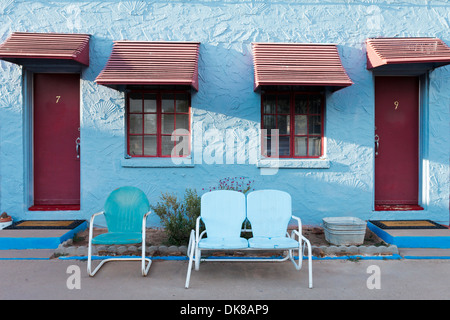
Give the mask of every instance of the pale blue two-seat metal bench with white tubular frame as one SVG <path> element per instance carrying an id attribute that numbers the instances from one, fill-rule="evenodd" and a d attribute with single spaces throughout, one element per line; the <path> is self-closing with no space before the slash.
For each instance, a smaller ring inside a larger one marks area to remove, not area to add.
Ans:
<path id="1" fill-rule="evenodd" d="M 312 288 L 311 244 L 302 231 L 300 218 L 292 216 L 291 196 L 278 190 L 253 191 L 247 196 L 241 192 L 218 190 L 205 193 L 201 199 L 201 216 L 197 218 L 195 231 L 191 231 L 188 246 L 189 266 L 185 287 L 189 288 L 192 264 L 199 270 L 200 261 L 286 261 L 295 268 L 302 267 L 304 250 L 308 249 L 309 288 Z M 242 229 L 245 220 L 251 229 Z M 291 219 L 297 221 L 297 229 L 291 235 L 287 227 Z M 200 233 L 200 220 L 205 231 Z M 253 237 L 242 238 L 241 231 L 251 231 Z M 207 235 L 204 238 L 205 234 Z M 202 250 L 287 250 L 285 257 L 275 259 L 218 259 L 202 258 Z M 298 250 L 298 263 L 293 251 Z"/>

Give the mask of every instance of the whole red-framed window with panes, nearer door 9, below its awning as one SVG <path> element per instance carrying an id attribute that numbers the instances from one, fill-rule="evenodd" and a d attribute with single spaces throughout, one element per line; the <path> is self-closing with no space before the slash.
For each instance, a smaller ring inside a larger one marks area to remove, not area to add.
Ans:
<path id="1" fill-rule="evenodd" d="M 324 97 L 319 93 L 265 93 L 261 96 L 263 156 L 271 154 L 278 129 L 280 158 L 319 158 L 323 154 Z M 274 146 L 276 150 L 276 145 Z"/>

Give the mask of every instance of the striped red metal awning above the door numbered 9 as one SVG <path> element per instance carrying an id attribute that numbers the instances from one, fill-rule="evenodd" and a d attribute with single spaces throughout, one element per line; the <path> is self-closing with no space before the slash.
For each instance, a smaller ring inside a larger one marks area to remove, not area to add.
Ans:
<path id="1" fill-rule="evenodd" d="M 366 40 L 367 69 L 386 65 L 424 64 L 434 69 L 450 64 L 450 48 L 438 38 L 373 38 Z"/>

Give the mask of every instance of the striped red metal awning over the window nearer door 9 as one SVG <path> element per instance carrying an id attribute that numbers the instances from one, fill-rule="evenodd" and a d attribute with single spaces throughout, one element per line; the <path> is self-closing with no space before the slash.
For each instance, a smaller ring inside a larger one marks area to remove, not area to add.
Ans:
<path id="1" fill-rule="evenodd" d="M 255 91 L 267 85 L 338 90 L 353 84 L 334 44 L 253 43 L 253 65 Z"/>

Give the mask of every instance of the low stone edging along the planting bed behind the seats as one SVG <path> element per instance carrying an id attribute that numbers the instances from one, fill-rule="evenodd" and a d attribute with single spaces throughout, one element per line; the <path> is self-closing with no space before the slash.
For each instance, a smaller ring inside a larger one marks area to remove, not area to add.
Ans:
<path id="1" fill-rule="evenodd" d="M 141 246 L 134 245 L 112 245 L 92 246 L 93 255 L 120 256 L 120 255 L 140 255 Z M 396 245 L 386 246 L 312 246 L 312 254 L 315 257 L 333 256 L 391 256 L 398 255 Z M 147 246 L 145 254 L 148 256 L 186 256 L 186 246 Z M 69 239 L 61 243 L 55 250 L 54 255 L 59 256 L 87 256 L 87 246 L 74 246 L 73 240 Z"/>

